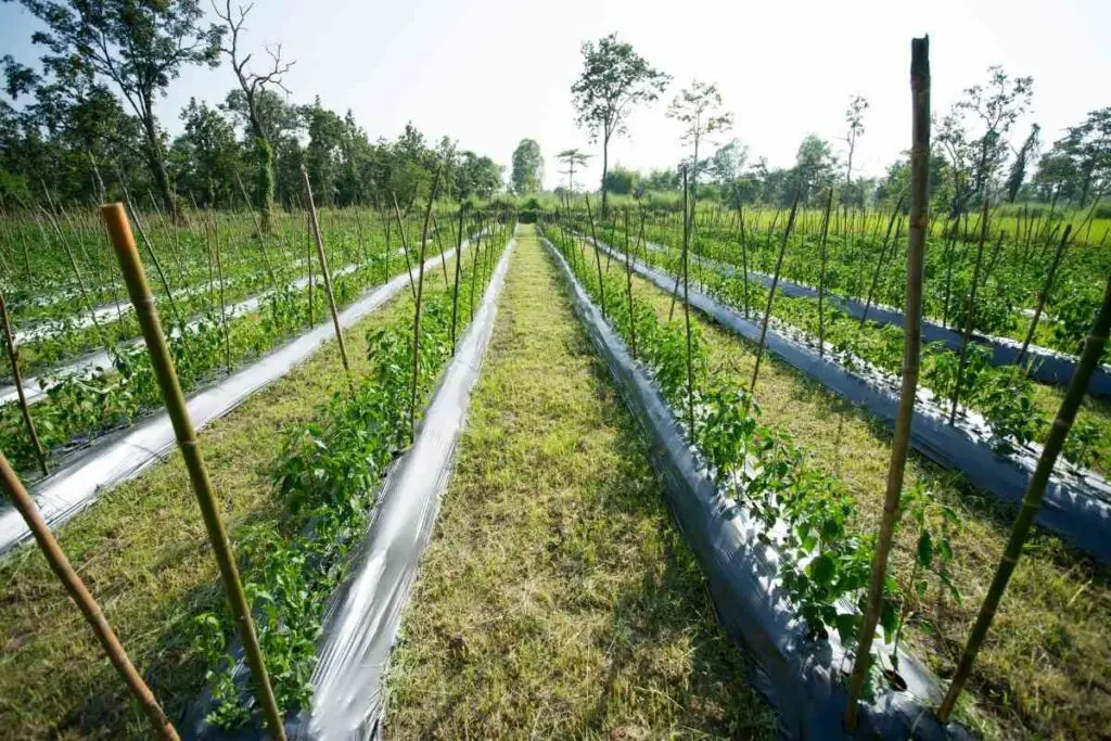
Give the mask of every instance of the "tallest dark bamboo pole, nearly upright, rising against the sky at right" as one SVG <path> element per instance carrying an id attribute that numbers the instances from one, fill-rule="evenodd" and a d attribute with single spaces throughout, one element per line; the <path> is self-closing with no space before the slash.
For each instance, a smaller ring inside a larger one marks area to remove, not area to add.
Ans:
<path id="1" fill-rule="evenodd" d="M 849 679 L 849 709 L 845 727 L 852 732 L 861 690 L 871 663 L 872 641 L 883 604 L 883 584 L 887 581 L 888 555 L 899 520 L 899 500 L 902 494 L 907 453 L 910 450 L 910 427 L 914 418 L 914 397 L 922 346 L 922 273 L 925 254 L 925 230 L 929 227 L 930 184 L 930 37 L 911 40 L 910 62 L 911 97 L 913 101 L 913 133 L 911 143 L 911 213 L 907 240 L 907 313 L 903 340 L 902 390 L 899 415 L 891 441 L 891 460 L 888 465 L 887 492 L 883 499 L 883 518 L 872 558 L 872 578 L 868 588 L 864 621 L 857 638 L 857 655 Z"/>

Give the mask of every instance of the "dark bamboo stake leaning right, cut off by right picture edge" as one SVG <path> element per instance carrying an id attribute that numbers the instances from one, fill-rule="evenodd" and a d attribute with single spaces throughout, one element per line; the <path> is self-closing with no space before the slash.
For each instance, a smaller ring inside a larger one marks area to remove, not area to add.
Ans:
<path id="1" fill-rule="evenodd" d="M 1030 534 L 1034 515 L 1042 505 L 1045 484 L 1049 482 L 1057 459 L 1064 448 L 1064 441 L 1072 429 L 1072 423 L 1077 419 L 1077 411 L 1084 399 L 1088 382 L 1091 380 L 1092 373 L 1095 371 L 1100 358 L 1103 356 L 1103 347 L 1107 344 L 1109 329 L 1111 329 L 1111 278 L 1108 279 L 1103 291 L 1103 303 L 1100 306 L 1100 312 L 1084 341 L 1084 350 L 1081 353 L 1080 361 L 1077 363 L 1077 372 L 1069 382 L 1069 389 L 1065 391 L 1060 409 L 1058 409 L 1057 419 L 1053 420 L 1053 427 L 1050 428 L 1049 437 L 1045 439 L 1045 447 L 1038 459 L 1038 468 L 1034 469 L 1034 474 L 1030 479 L 1027 493 L 1022 498 L 1022 509 L 1019 510 L 1019 515 L 1011 528 L 1007 549 L 1003 551 L 1003 557 L 995 569 L 991 587 L 988 588 L 988 595 L 984 598 L 983 604 L 980 605 L 975 624 L 969 634 L 968 643 L 964 644 L 964 650 L 961 652 L 961 658 L 957 663 L 957 671 L 953 674 L 948 692 L 945 692 L 945 699 L 938 709 L 938 718 L 942 722 L 949 720 L 953 705 L 957 704 L 957 699 L 964 689 L 964 683 L 972 672 L 972 665 L 975 662 L 980 647 L 988 635 L 988 630 L 995 618 L 999 603 L 1007 591 L 1011 574 L 1014 573 L 1014 568 L 1019 563 L 1019 557 L 1022 555 L 1022 545 Z"/>

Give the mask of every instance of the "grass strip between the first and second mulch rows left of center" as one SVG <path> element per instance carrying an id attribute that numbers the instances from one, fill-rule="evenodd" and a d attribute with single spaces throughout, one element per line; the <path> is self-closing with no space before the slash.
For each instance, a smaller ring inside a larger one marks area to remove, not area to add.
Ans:
<path id="1" fill-rule="evenodd" d="M 440 270 L 426 276 L 441 281 Z M 412 312 L 408 290 L 344 334 L 364 372 L 366 331 Z M 269 467 L 282 430 L 343 385 L 329 342 L 306 364 L 204 430 L 201 449 L 232 532 L 282 517 Z M 222 599 L 180 454 L 124 483 L 64 525 L 62 548 L 171 719 L 204 683 L 191 621 Z M 141 738 L 147 722 L 40 551 L 0 561 L 0 738 Z"/>

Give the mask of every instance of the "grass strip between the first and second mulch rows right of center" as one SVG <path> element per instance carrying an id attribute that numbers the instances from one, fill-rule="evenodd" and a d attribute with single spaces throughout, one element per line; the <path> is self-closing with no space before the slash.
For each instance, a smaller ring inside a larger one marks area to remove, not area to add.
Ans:
<path id="1" fill-rule="evenodd" d="M 589 248 L 588 248 L 589 249 Z M 614 262 L 614 266 L 618 263 Z M 614 269 L 621 269 L 618 266 Z M 639 296 L 667 320 L 670 297 L 634 279 Z M 677 309 L 677 321 L 682 312 Z M 754 344 L 691 313 L 704 338 L 711 373 L 748 388 Z M 769 362 L 770 361 L 770 362 Z M 755 389 L 763 419 L 787 429 L 810 462 L 837 474 L 860 510 L 857 527 L 874 530 L 883 505 L 890 432 L 861 410 L 764 356 Z M 912 454 L 905 484 L 920 482 L 961 515 L 951 533 L 950 575 L 962 601 L 942 598 L 935 581 L 912 604 L 909 648 L 940 677 L 951 674 L 968 630 L 1003 551 L 1014 511 L 972 488 L 959 474 Z M 908 583 L 917 533 L 903 530 L 893 555 L 897 577 Z M 927 632 L 923 621 L 935 630 Z M 1107 738 L 1111 728 L 1111 580 L 1105 569 L 1035 533 L 1011 580 L 960 711 L 988 738 Z"/>

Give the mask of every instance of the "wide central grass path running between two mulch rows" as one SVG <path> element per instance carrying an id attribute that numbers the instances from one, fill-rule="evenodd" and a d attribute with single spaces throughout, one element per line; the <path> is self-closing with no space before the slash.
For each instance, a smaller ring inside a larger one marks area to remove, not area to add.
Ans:
<path id="1" fill-rule="evenodd" d="M 647 448 L 518 241 L 389 675 L 393 738 L 765 737 Z"/>

